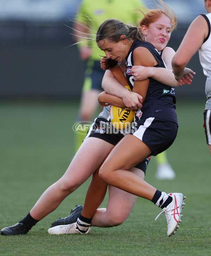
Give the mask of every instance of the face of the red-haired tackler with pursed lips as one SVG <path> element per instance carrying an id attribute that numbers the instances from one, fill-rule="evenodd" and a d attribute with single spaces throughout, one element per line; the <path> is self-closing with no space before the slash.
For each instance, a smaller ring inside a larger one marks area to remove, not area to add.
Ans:
<path id="1" fill-rule="evenodd" d="M 142 26 L 142 31 L 143 31 Z M 154 47 L 161 51 L 164 49 L 171 36 L 171 19 L 165 14 L 162 14 L 155 22 L 149 24 L 146 28 L 146 32 L 143 31 L 145 36 L 145 41 L 154 45 Z"/>

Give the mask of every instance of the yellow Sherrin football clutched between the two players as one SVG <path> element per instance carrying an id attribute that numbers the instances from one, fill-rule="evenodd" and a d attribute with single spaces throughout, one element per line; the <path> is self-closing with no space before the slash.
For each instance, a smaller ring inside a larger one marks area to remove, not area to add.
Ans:
<path id="1" fill-rule="evenodd" d="M 129 91 L 129 85 L 125 86 Z M 110 106 L 110 119 L 112 125 L 117 130 L 125 130 L 130 123 L 133 121 L 135 115 L 135 111 L 129 108 L 119 108 L 113 105 Z"/>

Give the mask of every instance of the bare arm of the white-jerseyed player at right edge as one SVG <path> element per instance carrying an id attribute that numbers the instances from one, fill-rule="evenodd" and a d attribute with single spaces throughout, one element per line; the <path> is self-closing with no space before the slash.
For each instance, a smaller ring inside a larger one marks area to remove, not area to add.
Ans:
<path id="1" fill-rule="evenodd" d="M 207 34 L 207 22 L 202 15 L 199 15 L 189 26 L 183 41 L 173 56 L 172 69 L 175 76 L 179 76 L 181 73 L 183 73 L 183 70 L 192 56 L 202 46 Z"/>

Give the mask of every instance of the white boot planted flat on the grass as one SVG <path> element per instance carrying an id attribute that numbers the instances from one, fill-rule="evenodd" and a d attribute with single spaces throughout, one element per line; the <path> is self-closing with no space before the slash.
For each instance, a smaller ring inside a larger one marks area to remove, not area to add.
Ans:
<path id="1" fill-rule="evenodd" d="M 49 228 L 47 231 L 49 234 L 88 234 L 91 233 L 91 226 L 88 227 L 88 230 L 85 233 L 82 233 L 81 231 L 78 230 L 76 222 L 69 224 L 69 225 L 59 225 L 55 227 Z"/>

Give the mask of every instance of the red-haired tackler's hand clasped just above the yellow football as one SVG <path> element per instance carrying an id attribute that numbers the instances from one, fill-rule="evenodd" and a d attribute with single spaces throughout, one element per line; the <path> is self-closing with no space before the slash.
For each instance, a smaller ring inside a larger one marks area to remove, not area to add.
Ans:
<path id="1" fill-rule="evenodd" d="M 122 100 L 124 105 L 131 110 L 142 108 L 143 97 L 138 93 L 128 91 L 128 93 L 122 97 Z"/>

